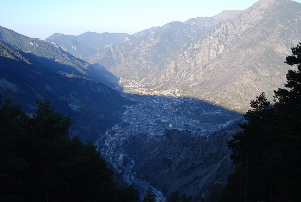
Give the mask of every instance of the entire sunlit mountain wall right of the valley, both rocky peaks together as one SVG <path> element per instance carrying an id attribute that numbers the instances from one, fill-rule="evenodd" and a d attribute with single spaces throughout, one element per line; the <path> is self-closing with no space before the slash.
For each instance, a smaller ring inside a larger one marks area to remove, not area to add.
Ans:
<path id="1" fill-rule="evenodd" d="M 300 9 L 289 0 L 260 0 L 240 14 L 224 11 L 211 20 L 168 23 L 88 62 L 118 77 L 152 82 L 152 88 L 178 88 L 244 110 L 262 91 L 272 101 L 272 91 L 283 86 L 290 69 L 285 56 L 301 40 Z"/>

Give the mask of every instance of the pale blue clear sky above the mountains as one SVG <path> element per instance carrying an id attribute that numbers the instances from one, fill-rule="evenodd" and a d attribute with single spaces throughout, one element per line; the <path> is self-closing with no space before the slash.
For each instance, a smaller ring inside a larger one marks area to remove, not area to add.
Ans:
<path id="1" fill-rule="evenodd" d="M 0 0 L 0 26 L 32 38 L 54 33 L 134 34 L 152 26 L 223 10 L 249 8 L 256 0 Z M 301 0 L 296 0 L 300 2 Z"/>

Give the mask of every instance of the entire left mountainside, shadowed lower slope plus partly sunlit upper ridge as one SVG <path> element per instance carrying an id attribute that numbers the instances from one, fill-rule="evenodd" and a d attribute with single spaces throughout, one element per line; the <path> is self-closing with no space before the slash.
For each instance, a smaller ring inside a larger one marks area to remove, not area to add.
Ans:
<path id="1" fill-rule="evenodd" d="M 13 98 L 27 113 L 34 112 L 38 98 L 48 99 L 56 110 L 70 115 L 70 135 L 87 141 L 119 123 L 129 100 L 88 79 L 96 67 L 82 62 L 47 42 L 0 27 L 1 99 Z"/>

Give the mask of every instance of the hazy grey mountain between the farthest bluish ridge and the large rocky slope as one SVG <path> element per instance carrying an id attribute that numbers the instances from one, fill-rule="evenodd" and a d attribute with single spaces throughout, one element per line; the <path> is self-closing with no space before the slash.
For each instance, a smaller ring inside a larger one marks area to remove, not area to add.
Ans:
<path id="1" fill-rule="evenodd" d="M 227 11 L 213 17 L 185 22 L 173 21 L 134 41 L 105 48 L 86 60 L 98 63 L 118 77 L 134 80 L 160 78 L 163 64 L 189 39 L 203 34 L 208 27 L 229 19 L 240 11 Z M 222 15 L 223 17 L 220 17 Z"/>

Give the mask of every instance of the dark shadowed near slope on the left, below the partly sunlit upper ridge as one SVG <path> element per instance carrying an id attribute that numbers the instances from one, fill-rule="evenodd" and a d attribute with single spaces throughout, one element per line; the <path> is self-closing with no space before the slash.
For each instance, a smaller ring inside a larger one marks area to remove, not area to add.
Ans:
<path id="1" fill-rule="evenodd" d="M 2 98 L 13 98 L 27 113 L 34 112 L 38 98 L 48 99 L 56 109 L 70 115 L 70 136 L 77 135 L 84 142 L 99 138 L 101 132 L 119 123 L 122 105 L 128 100 L 101 82 L 58 73 L 52 64 L 51 59 L 43 58 L 41 62 L 41 57 L 0 42 Z"/>

